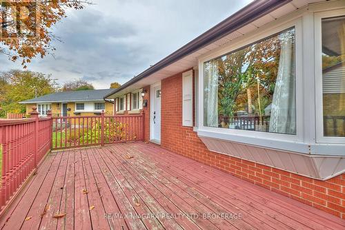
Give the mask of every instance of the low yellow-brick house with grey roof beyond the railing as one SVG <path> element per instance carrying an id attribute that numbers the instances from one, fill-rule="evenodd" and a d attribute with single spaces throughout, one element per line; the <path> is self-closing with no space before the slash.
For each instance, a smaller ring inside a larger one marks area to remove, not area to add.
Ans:
<path id="1" fill-rule="evenodd" d="M 41 116 L 46 116 L 48 110 L 52 111 L 53 116 L 92 116 L 100 114 L 102 110 L 112 115 L 113 101 L 103 99 L 110 92 L 111 89 L 57 92 L 20 103 L 26 105 L 26 113 L 36 106 Z"/>

